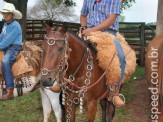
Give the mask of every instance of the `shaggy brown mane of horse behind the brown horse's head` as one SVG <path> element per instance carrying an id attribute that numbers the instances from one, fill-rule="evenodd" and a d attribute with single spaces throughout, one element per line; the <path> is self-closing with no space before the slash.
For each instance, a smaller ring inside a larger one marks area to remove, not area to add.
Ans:
<path id="1" fill-rule="evenodd" d="M 23 44 L 24 56 L 28 58 L 28 63 L 32 67 L 40 67 L 41 65 L 41 52 L 42 49 L 34 45 L 31 41 Z"/>

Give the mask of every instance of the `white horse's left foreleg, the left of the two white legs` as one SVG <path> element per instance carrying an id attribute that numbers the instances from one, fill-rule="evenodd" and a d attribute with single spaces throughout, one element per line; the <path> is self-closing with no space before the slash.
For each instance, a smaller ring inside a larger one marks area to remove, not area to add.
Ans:
<path id="1" fill-rule="evenodd" d="M 46 93 L 41 88 L 39 88 L 39 90 L 40 90 L 41 99 L 42 99 L 44 122 L 48 122 L 50 113 L 51 113 L 51 104 L 50 104 L 49 98 L 46 95 Z"/>

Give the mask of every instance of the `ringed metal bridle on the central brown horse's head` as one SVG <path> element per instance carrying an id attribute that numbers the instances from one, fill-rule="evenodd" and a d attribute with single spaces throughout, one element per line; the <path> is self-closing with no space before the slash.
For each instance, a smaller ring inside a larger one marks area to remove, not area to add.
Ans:
<path id="1" fill-rule="evenodd" d="M 55 31 L 54 31 L 55 32 Z M 54 33 L 53 32 L 53 33 Z M 57 32 L 55 32 L 57 33 Z M 58 32 L 59 33 L 59 32 Z M 43 61 L 41 61 L 41 74 L 43 76 L 48 75 L 48 73 L 54 73 L 53 74 L 53 78 L 57 81 L 57 84 L 59 84 L 60 80 L 63 80 L 63 76 L 65 75 L 67 69 L 68 69 L 68 56 L 69 56 L 69 43 L 68 43 L 68 36 L 66 35 L 65 38 L 53 38 L 53 37 L 47 37 L 47 34 L 44 36 L 45 40 L 47 41 L 47 44 L 49 46 L 53 46 L 56 44 L 57 41 L 64 41 L 64 50 L 62 53 L 62 56 L 59 60 L 59 63 L 57 64 L 57 66 L 54 69 L 48 69 L 46 67 L 43 67 L 42 63 Z M 42 53 L 43 54 L 43 53 Z M 43 59 L 43 56 L 42 56 Z M 61 85 L 61 84 L 59 84 Z M 40 86 L 40 88 L 44 91 L 44 93 L 47 95 L 47 93 L 45 92 L 45 89 L 49 89 L 48 87 L 44 87 L 44 86 Z M 48 99 L 50 100 L 49 96 L 47 95 Z M 51 103 L 52 105 L 52 103 Z"/>

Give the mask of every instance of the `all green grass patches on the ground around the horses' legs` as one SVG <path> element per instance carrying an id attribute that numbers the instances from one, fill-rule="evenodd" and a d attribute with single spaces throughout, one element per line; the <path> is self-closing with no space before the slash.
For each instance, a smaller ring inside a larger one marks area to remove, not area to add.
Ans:
<path id="1" fill-rule="evenodd" d="M 137 94 L 136 89 L 138 86 L 132 84 L 133 78 L 141 79 L 144 74 L 144 68 L 136 68 L 135 73 L 131 76 L 130 80 L 124 84 L 122 92 L 126 97 L 126 103 L 133 101 L 135 95 Z M 78 120 L 77 122 L 85 122 L 86 114 L 80 114 L 79 111 L 76 112 Z M 131 113 L 129 110 L 124 108 L 116 109 L 116 122 L 123 122 L 126 116 Z M 0 102 L 0 122 L 42 122 L 43 112 L 41 105 L 41 98 L 39 91 L 32 94 L 17 97 L 11 101 L 1 101 Z M 50 122 L 56 122 L 53 112 L 50 116 Z M 101 108 L 98 105 L 98 112 L 96 113 L 95 122 L 101 122 Z M 141 122 L 134 121 L 133 122 Z"/>

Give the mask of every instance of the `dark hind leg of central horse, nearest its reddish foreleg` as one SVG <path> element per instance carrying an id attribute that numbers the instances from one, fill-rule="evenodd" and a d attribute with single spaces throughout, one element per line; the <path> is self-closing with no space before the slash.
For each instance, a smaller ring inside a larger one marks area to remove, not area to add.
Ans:
<path id="1" fill-rule="evenodd" d="M 107 107 L 107 100 L 102 99 L 100 100 L 100 106 L 102 108 L 102 122 L 106 122 L 106 107 Z"/>

